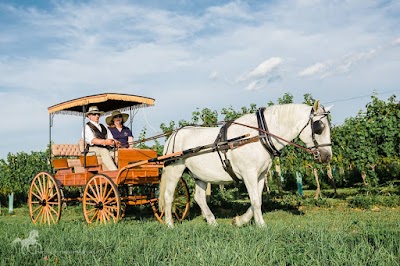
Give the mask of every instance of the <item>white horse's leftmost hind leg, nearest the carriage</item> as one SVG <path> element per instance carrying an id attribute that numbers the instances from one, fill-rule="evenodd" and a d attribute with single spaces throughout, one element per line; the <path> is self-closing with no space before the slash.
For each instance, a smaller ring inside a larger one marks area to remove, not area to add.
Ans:
<path id="1" fill-rule="evenodd" d="M 182 177 L 185 165 L 169 165 L 164 168 L 162 178 L 165 178 L 165 224 L 168 227 L 174 226 L 174 220 L 172 219 L 172 202 L 174 200 L 174 193 L 176 185 L 179 179 Z"/>

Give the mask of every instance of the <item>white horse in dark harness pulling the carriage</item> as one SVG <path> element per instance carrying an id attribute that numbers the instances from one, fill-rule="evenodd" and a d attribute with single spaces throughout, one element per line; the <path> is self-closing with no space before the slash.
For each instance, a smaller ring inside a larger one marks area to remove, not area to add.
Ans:
<path id="1" fill-rule="evenodd" d="M 259 123 L 255 114 L 246 114 L 232 123 L 227 130 L 227 139 L 250 134 L 250 138 L 255 137 L 257 140 L 229 149 L 226 153 L 237 179 L 244 182 L 251 202 L 251 207 L 246 213 L 234 218 L 235 225 L 246 224 L 253 217 L 258 226 L 265 224 L 261 212 L 262 191 L 265 174 L 272 164 L 272 151 L 279 152 L 289 141 L 299 136 L 306 144 L 307 150 L 314 153 L 314 160 L 319 163 L 330 161 L 332 149 L 327 118 L 329 109 L 330 107 L 320 107 L 318 101 L 314 107 L 305 104 L 268 107 L 263 112 L 268 130 L 257 129 Z M 164 146 L 164 155 L 212 144 L 219 132 L 218 127 L 182 128 L 168 138 Z M 268 151 L 261 141 L 258 141 L 259 132 L 268 132 L 271 136 L 272 151 L 271 148 Z M 299 152 L 302 151 L 299 149 Z M 183 156 L 166 164 L 161 177 L 159 207 L 161 211 L 165 210 L 165 223 L 169 227 L 173 227 L 171 208 L 175 187 L 186 168 L 195 179 L 194 199 L 200 206 L 203 217 L 209 224 L 216 224 L 206 202 L 206 185 L 233 182 L 233 178 L 224 170 L 221 158 L 224 156 L 216 151 L 194 153 L 193 156 Z"/>

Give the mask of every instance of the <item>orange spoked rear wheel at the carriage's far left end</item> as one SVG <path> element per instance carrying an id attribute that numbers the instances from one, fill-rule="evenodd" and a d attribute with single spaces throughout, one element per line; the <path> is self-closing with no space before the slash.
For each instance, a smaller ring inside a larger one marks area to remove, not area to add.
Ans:
<path id="1" fill-rule="evenodd" d="M 33 178 L 28 195 L 29 214 L 34 224 L 56 224 L 61 217 L 61 193 L 56 180 L 41 172 Z"/>

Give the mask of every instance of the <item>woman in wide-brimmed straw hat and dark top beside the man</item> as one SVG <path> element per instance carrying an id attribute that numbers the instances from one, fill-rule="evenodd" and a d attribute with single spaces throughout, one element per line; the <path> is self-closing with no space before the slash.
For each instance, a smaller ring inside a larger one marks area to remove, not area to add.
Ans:
<path id="1" fill-rule="evenodd" d="M 106 118 L 106 123 L 109 126 L 108 129 L 112 133 L 114 139 L 121 143 L 122 148 L 133 148 L 132 131 L 124 126 L 128 118 L 128 114 L 123 114 L 120 111 L 114 111 Z"/>

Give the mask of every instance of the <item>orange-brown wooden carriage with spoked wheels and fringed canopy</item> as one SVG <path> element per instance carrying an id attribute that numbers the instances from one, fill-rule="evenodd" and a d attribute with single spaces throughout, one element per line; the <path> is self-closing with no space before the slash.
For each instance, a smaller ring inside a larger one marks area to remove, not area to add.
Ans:
<path id="1" fill-rule="evenodd" d="M 118 170 L 110 171 L 101 157 L 88 152 L 79 144 L 52 144 L 51 128 L 54 115 L 75 114 L 83 117 L 96 105 L 105 115 L 112 111 L 129 111 L 154 105 L 154 99 L 128 94 L 105 93 L 63 102 L 48 108 L 50 116 L 50 161 L 53 171 L 37 174 L 31 183 L 28 205 L 35 224 L 54 224 L 60 220 L 63 206 L 81 202 L 87 223 L 117 222 L 127 206 L 150 204 L 155 217 L 163 222 L 158 210 L 158 186 L 163 162 L 151 160 L 157 153 L 151 149 L 118 149 Z M 79 130 L 79 129 L 77 129 Z M 151 162 L 154 161 L 154 162 Z M 77 187 L 79 195 L 70 197 L 66 187 Z M 175 218 L 181 221 L 189 210 L 189 191 L 180 180 L 174 198 Z"/>

